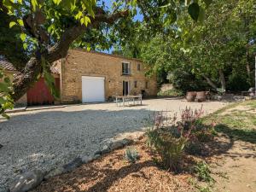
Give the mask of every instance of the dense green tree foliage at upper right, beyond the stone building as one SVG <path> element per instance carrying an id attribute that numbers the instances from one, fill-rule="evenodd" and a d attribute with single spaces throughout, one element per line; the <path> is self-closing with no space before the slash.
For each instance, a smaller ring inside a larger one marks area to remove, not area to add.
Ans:
<path id="1" fill-rule="evenodd" d="M 204 9 L 203 22 L 192 22 L 186 9 L 180 10 L 183 14 L 171 25 L 172 32 L 161 32 L 143 43 L 140 56 L 150 63 L 151 70 L 162 73 L 180 69 L 195 79 L 204 79 L 214 90 L 253 86 L 255 2 L 213 1 Z"/>

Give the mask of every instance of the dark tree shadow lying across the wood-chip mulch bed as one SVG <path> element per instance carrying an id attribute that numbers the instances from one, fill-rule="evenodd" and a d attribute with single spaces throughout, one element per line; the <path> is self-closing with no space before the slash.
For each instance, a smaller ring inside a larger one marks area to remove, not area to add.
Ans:
<path id="1" fill-rule="evenodd" d="M 120 159 L 116 156 L 114 159 Z M 87 164 L 74 170 L 72 173 L 62 174 L 54 178 L 53 182 L 43 182 L 37 189 L 33 191 L 47 191 L 49 189 L 55 191 L 76 191 L 76 192 L 107 192 L 113 186 L 113 183 L 131 175 L 131 177 L 143 177 L 148 179 L 141 170 L 145 167 L 154 166 L 153 160 L 146 160 L 122 166 L 114 169 L 112 166 L 93 166 Z M 90 187 L 87 187 L 90 185 Z"/>

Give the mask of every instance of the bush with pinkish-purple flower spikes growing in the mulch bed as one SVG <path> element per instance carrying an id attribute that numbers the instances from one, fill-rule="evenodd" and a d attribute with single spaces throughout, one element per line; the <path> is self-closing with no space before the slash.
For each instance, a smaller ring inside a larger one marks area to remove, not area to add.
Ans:
<path id="1" fill-rule="evenodd" d="M 162 165 L 173 172 L 180 172 L 183 166 L 185 147 L 198 141 L 195 133 L 203 131 L 200 118 L 203 111 L 186 108 L 181 112 L 180 120 L 177 115 L 169 117 L 160 112 L 154 115 L 154 125 L 147 131 L 148 146 L 160 156 Z"/>

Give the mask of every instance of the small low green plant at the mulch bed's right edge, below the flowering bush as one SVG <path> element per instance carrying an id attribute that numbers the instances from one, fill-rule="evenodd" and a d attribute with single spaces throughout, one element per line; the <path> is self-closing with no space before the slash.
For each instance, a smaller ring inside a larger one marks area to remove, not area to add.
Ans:
<path id="1" fill-rule="evenodd" d="M 211 177 L 210 168 L 207 165 L 205 161 L 201 161 L 197 163 L 197 165 L 194 167 L 195 173 L 197 174 L 197 177 L 204 182 L 212 183 L 214 179 Z"/>

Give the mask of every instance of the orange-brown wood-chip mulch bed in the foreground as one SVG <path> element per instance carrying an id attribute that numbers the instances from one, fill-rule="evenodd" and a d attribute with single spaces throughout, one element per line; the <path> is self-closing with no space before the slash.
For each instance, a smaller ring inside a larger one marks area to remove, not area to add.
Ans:
<path id="1" fill-rule="evenodd" d="M 189 174 L 174 175 L 156 166 L 145 142 L 132 146 L 141 158 L 136 163 L 124 159 L 125 149 L 119 149 L 71 173 L 44 181 L 33 192 L 151 192 L 194 191 Z"/>

